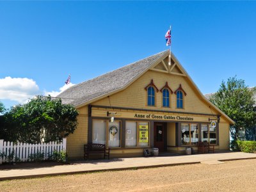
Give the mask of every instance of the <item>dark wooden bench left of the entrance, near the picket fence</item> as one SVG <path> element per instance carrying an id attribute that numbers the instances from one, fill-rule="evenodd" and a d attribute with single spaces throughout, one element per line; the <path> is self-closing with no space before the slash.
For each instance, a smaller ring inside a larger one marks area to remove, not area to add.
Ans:
<path id="1" fill-rule="evenodd" d="M 89 159 L 89 154 L 104 154 L 104 159 L 108 156 L 109 159 L 110 148 L 106 148 L 105 144 L 87 143 L 84 144 L 84 159 Z"/>

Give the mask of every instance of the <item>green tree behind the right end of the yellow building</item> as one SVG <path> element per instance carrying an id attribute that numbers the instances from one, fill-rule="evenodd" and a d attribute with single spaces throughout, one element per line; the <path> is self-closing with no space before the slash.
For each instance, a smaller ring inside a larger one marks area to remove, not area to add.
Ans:
<path id="1" fill-rule="evenodd" d="M 228 115 L 235 125 L 230 127 L 233 140 L 237 140 L 240 130 L 252 127 L 256 118 L 255 88 L 249 89 L 244 80 L 236 77 L 222 81 L 218 92 L 210 97 L 210 101 Z"/>

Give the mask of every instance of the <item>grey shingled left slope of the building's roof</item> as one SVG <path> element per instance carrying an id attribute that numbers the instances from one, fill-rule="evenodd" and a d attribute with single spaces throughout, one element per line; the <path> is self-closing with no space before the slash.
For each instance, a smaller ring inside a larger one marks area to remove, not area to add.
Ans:
<path id="1" fill-rule="evenodd" d="M 63 103 L 79 106 L 92 99 L 110 94 L 116 90 L 120 90 L 120 88 L 124 88 L 132 80 L 135 80 L 136 77 L 147 71 L 157 59 L 168 53 L 169 50 L 159 52 L 143 60 L 103 74 L 102 76 L 76 84 L 60 93 L 57 97 L 60 97 Z"/>

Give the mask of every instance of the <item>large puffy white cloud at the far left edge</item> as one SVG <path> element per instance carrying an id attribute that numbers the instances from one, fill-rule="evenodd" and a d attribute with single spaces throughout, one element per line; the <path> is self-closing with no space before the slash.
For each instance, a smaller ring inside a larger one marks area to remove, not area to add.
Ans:
<path id="1" fill-rule="evenodd" d="M 4 77 L 0 79 L 0 99 L 8 99 L 24 104 L 29 98 L 40 95 L 33 79 Z"/>

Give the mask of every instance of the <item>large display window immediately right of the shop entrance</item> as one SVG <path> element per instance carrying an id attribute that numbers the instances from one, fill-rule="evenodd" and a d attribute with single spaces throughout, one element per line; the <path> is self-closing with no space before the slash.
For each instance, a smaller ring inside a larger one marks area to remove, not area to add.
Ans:
<path id="1" fill-rule="evenodd" d="M 181 124 L 181 145 L 198 144 L 198 124 Z"/>

